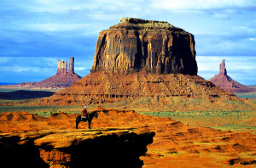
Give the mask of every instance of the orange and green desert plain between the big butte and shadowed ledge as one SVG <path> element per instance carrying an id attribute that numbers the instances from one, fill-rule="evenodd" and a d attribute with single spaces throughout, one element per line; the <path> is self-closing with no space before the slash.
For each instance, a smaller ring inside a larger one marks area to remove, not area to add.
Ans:
<path id="1" fill-rule="evenodd" d="M 21 106 L 19 101 L 9 101 L 9 104 L 16 103 L 12 106 L 1 106 L 2 112 L 10 112 L 1 113 L 0 132 L 2 140 L 3 136 L 22 137 L 23 134 L 28 133 L 55 132 L 51 138 L 56 136 L 60 143 L 72 141 L 65 136 L 59 139 L 56 132 L 61 131 L 96 134 L 103 132 L 104 129 L 112 133 L 116 130 L 154 132 L 153 142 L 147 145 L 146 154 L 140 156 L 143 167 L 253 167 L 255 165 L 255 109 L 182 112 L 182 108 L 186 108 L 191 102 L 185 105 L 181 100 L 179 101 L 180 111 L 169 112 L 150 110 L 152 108 L 150 106 L 144 107 L 143 110 L 143 107 L 125 106 L 125 103 L 101 104 L 102 107 L 97 107 L 96 104 L 90 105 L 88 107 L 90 112 L 98 111 L 98 119 L 92 120 L 91 130 L 88 129 L 86 122 L 79 124 L 79 130 L 75 129 L 75 119 L 83 109 L 81 106 L 37 107 L 29 104 Z M 247 101 L 255 104 L 255 99 Z M 95 136 L 93 134 L 92 137 Z M 45 154 L 42 153 L 41 156 L 49 163 L 50 159 Z M 58 159 L 63 161 L 61 156 Z M 56 167 L 56 163 L 51 166 Z"/>

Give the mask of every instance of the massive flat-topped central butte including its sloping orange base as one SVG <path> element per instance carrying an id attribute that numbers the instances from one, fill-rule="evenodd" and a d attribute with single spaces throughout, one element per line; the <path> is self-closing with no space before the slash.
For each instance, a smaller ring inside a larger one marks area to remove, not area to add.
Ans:
<path id="1" fill-rule="evenodd" d="M 177 97 L 238 100 L 197 76 L 195 53 L 194 36 L 183 29 L 165 21 L 124 18 L 100 32 L 90 74 L 40 104 Z"/>

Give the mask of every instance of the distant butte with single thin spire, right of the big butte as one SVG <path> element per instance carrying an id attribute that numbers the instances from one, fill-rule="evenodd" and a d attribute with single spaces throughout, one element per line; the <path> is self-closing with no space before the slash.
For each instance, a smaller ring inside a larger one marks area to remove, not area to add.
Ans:
<path id="1" fill-rule="evenodd" d="M 255 87 L 247 87 L 241 83 L 234 81 L 227 74 L 225 60 L 219 64 L 219 73 L 216 76 L 213 76 L 209 81 L 212 81 L 216 86 L 221 87 L 228 92 L 256 92 Z"/>

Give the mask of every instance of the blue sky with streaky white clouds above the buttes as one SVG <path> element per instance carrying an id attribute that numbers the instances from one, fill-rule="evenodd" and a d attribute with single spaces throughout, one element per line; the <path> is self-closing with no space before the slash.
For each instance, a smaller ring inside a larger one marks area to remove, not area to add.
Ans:
<path id="1" fill-rule="evenodd" d="M 229 76 L 256 84 L 255 0 L 1 0 L 0 15 L 0 82 L 42 81 L 71 56 L 86 76 L 99 32 L 136 17 L 194 34 L 199 76 L 225 59 Z"/>

